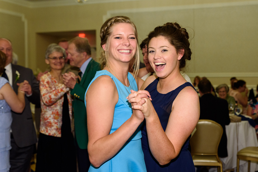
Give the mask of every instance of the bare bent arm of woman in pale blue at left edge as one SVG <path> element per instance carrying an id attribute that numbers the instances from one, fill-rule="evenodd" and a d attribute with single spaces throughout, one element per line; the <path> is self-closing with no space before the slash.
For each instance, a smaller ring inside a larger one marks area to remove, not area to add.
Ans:
<path id="1" fill-rule="evenodd" d="M 20 90 L 22 85 L 21 83 L 18 88 L 18 95 L 15 94 L 9 83 L 6 83 L 0 89 L 0 99 L 5 99 L 12 111 L 16 113 L 22 113 L 25 107 L 24 92 Z"/>

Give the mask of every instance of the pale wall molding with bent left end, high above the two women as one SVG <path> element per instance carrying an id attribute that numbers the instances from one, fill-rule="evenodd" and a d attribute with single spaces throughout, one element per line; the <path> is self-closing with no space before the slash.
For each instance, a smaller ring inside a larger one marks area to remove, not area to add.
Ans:
<path id="1" fill-rule="evenodd" d="M 161 12 L 161 11 L 175 11 L 186 9 L 204 9 L 204 8 L 221 8 L 221 7 L 237 7 L 237 6 L 250 6 L 258 5 L 258 1 L 245 1 L 245 2 L 222 2 L 222 3 L 210 3 L 210 4 L 193 4 L 193 5 L 176 5 L 165 7 L 150 7 L 150 8 L 131 8 L 121 10 L 107 11 L 106 15 L 103 15 L 103 23 L 109 19 L 112 14 L 117 15 L 121 13 L 137 13 L 137 12 Z"/>

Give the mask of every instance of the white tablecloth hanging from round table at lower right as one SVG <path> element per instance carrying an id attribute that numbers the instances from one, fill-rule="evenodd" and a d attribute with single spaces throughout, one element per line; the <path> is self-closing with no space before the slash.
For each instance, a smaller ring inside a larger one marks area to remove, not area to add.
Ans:
<path id="1" fill-rule="evenodd" d="M 237 152 L 245 147 L 258 146 L 255 129 L 248 121 L 239 123 L 230 123 L 226 126 L 228 157 L 220 158 L 223 163 L 223 171 L 233 169 L 236 171 Z M 240 160 L 240 172 L 246 172 L 247 161 Z M 250 172 L 258 170 L 258 164 L 251 162 Z M 217 171 L 217 168 L 211 168 L 209 172 Z"/>

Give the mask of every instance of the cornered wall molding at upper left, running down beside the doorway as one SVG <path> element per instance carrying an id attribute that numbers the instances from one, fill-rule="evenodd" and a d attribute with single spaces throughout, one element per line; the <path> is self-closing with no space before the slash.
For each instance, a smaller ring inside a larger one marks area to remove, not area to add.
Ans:
<path id="1" fill-rule="evenodd" d="M 13 12 L 0 8 L 0 13 L 13 15 L 16 17 L 21 17 L 22 22 L 24 22 L 24 59 L 25 59 L 25 67 L 29 67 L 29 59 L 28 59 L 28 21 L 25 18 L 25 15 L 19 12 Z"/>

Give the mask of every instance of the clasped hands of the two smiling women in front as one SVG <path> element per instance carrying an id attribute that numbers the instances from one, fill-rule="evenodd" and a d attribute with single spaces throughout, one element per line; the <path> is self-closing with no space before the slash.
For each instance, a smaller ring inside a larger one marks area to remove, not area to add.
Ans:
<path id="1" fill-rule="evenodd" d="M 139 110 L 141 111 L 141 114 L 144 115 L 144 117 L 149 116 L 149 109 L 151 109 L 151 95 L 148 91 L 146 90 L 138 90 L 134 91 L 131 90 L 131 94 L 127 97 L 127 100 L 129 103 L 132 105 L 132 109 L 134 110 Z M 135 112 L 140 116 L 139 112 Z"/>

